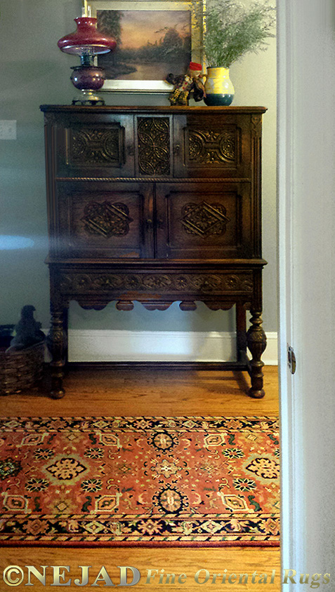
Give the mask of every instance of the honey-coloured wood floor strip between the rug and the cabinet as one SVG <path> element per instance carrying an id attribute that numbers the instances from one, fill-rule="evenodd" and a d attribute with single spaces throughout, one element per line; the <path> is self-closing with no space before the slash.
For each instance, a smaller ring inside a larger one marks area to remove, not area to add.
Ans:
<path id="1" fill-rule="evenodd" d="M 33 389 L 2 397 L 1 415 L 277 415 L 277 369 L 265 368 L 263 399 L 247 396 L 246 372 L 74 370 L 66 395 Z"/>

